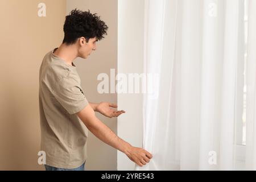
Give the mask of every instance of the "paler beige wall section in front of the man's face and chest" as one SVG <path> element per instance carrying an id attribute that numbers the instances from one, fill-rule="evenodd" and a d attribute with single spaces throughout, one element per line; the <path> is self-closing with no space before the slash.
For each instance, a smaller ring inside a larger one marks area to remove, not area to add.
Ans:
<path id="1" fill-rule="evenodd" d="M 110 77 L 111 68 L 117 72 L 117 0 L 67 0 L 67 13 L 75 8 L 80 10 L 89 9 L 92 13 L 97 13 L 109 26 L 108 35 L 97 43 L 97 51 L 93 52 L 86 60 L 77 59 L 75 61 L 86 98 L 90 102 L 108 101 L 117 103 L 117 94 L 99 94 L 97 92 L 97 85 L 100 82 L 97 81 L 97 76 L 100 73 L 107 73 Z M 98 113 L 97 117 L 117 133 L 116 118 L 102 117 Z M 86 169 L 117 169 L 117 150 L 101 142 L 91 133 L 88 137 L 87 150 Z"/>

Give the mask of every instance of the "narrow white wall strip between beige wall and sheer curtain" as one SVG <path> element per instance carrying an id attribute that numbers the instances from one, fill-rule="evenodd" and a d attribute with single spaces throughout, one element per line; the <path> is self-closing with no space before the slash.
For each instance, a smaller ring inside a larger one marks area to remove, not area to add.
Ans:
<path id="1" fill-rule="evenodd" d="M 136 5 L 136 6 L 134 6 Z M 118 73 L 143 72 L 144 0 L 118 0 Z M 142 95 L 118 94 L 126 114 L 118 118 L 118 136 L 142 147 Z M 117 169 L 133 170 L 135 164 L 118 151 Z"/>

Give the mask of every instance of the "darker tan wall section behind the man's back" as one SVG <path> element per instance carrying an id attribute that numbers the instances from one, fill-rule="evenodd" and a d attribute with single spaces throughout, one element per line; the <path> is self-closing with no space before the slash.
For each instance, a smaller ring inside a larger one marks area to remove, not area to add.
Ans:
<path id="1" fill-rule="evenodd" d="M 39 18 L 38 4 L 47 16 Z M 0 170 L 41 170 L 39 67 L 63 39 L 63 0 L 0 1 Z"/>

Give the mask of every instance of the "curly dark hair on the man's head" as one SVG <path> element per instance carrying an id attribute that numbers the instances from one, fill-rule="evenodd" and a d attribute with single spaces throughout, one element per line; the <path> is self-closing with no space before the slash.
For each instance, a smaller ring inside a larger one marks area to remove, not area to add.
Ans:
<path id="1" fill-rule="evenodd" d="M 97 40 L 101 40 L 104 35 L 108 35 L 108 26 L 100 19 L 100 16 L 97 16 L 97 13 L 91 14 L 90 10 L 72 10 L 66 16 L 63 30 L 65 34 L 63 43 L 67 45 L 75 44 L 82 36 L 88 42 L 90 38 L 97 37 Z"/>

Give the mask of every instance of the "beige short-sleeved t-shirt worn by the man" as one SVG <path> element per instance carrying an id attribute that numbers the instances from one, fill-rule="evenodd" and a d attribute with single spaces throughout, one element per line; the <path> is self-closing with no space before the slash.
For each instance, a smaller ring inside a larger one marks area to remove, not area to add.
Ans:
<path id="1" fill-rule="evenodd" d="M 80 167 L 86 160 L 88 130 L 76 115 L 88 105 L 76 66 L 54 55 L 44 56 L 39 73 L 41 150 L 46 164 Z"/>

